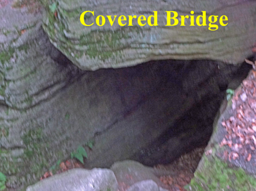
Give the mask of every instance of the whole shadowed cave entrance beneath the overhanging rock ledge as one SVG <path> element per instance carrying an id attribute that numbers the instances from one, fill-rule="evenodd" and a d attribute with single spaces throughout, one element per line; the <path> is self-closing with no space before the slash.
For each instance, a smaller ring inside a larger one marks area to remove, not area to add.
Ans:
<path id="1" fill-rule="evenodd" d="M 69 60 L 63 62 L 66 58 L 58 60 L 60 67 L 74 67 Z M 109 168 L 127 159 L 154 167 L 171 164 L 195 149 L 202 154 L 216 114 L 225 109 L 220 107 L 227 88 L 236 89 L 250 69 L 246 63 L 154 60 L 134 67 L 79 71 L 78 80 L 60 97 L 65 100 L 61 116 L 73 111 L 69 114 L 76 118 L 63 123 L 72 124 L 64 129 L 75 137 L 70 147 L 94 141 L 94 149 L 87 148 L 88 169 Z"/>

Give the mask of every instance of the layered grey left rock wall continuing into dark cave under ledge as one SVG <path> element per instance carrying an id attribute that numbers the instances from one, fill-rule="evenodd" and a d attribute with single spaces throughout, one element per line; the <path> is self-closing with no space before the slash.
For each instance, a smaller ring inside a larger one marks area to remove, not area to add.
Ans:
<path id="1" fill-rule="evenodd" d="M 81 71 L 50 43 L 40 5 L 0 5 L 0 171 L 8 190 L 38 181 L 88 141 L 95 142 L 87 149 L 88 168 L 127 158 L 166 163 L 208 141 L 211 118 L 238 67 L 166 60 Z"/>

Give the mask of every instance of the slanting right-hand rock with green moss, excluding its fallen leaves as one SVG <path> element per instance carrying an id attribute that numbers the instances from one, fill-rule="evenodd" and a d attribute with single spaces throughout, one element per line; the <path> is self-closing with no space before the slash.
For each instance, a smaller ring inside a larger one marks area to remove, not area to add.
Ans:
<path id="1" fill-rule="evenodd" d="M 253 73 L 249 73 L 247 79 Z M 236 92 L 239 92 L 239 86 Z M 226 129 L 223 127 L 222 122 L 229 119 L 234 115 L 232 108 L 232 100 L 228 102 L 225 111 L 222 114 L 218 113 L 214 122 L 213 135 L 205 148 L 205 154 L 201 159 L 195 177 L 190 181 L 190 185 L 186 186 L 187 190 L 233 190 L 233 191 L 248 191 L 255 190 L 256 188 L 256 169 L 255 162 L 252 158 L 250 161 L 245 160 L 239 154 L 239 158 L 233 160 L 229 158 L 228 154 L 231 152 L 230 147 L 224 145 L 221 147 L 220 143 L 227 135 Z M 244 103 L 246 105 L 246 103 Z"/>

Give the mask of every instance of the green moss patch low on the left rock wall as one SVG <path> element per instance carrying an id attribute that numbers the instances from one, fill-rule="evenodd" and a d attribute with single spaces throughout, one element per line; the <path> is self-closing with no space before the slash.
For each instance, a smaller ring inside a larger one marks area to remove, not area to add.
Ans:
<path id="1" fill-rule="evenodd" d="M 56 162 L 57 158 L 62 160 L 64 154 L 61 151 L 50 152 L 48 148 L 51 147 L 51 142 L 40 127 L 28 130 L 21 138 L 26 148 L 20 149 L 19 156 L 12 156 L 12 152 L 9 150 L 0 150 L 0 171 L 8 176 L 15 176 L 16 182 L 13 184 L 27 186 L 35 183 L 32 175 L 39 179 L 53 165 L 53 162 Z M 24 177 L 24 172 L 27 172 L 27 169 L 31 176 Z"/>

